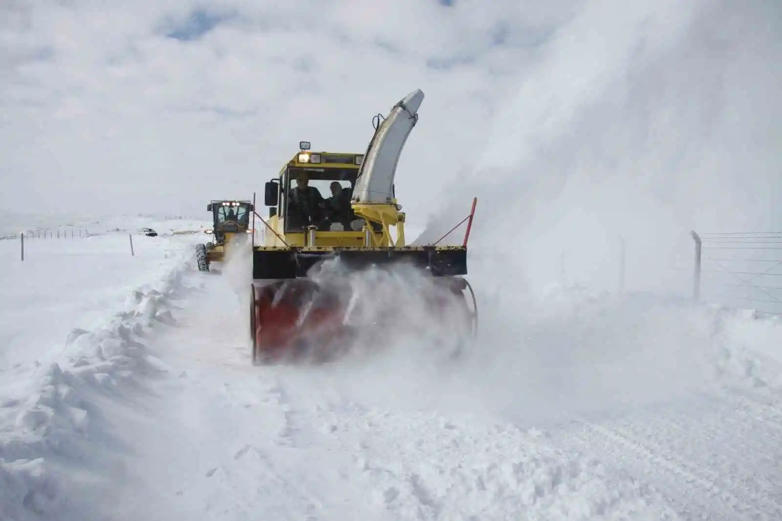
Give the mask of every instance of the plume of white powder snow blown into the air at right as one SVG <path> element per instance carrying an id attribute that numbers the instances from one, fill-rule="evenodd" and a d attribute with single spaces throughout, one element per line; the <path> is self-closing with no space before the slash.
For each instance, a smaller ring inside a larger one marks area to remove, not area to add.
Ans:
<path id="1" fill-rule="evenodd" d="M 615 290 L 624 241 L 627 289 L 689 294 L 691 229 L 782 222 L 780 20 L 755 0 L 584 5 L 520 71 L 419 240 L 477 194 L 471 244 L 494 250 L 480 268 L 498 291 L 510 274 Z"/>

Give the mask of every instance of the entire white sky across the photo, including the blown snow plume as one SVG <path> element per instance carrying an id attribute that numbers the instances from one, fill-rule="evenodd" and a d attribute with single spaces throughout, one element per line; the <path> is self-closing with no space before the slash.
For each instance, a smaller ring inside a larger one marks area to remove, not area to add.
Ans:
<path id="1" fill-rule="evenodd" d="M 206 217 L 300 140 L 363 152 L 421 88 L 411 221 L 450 228 L 478 195 L 476 246 L 511 237 L 551 275 L 569 243 L 582 280 L 613 280 L 587 259 L 620 235 L 689 256 L 691 228 L 780 228 L 780 20 L 777 0 L 4 0 L 0 198 Z"/>

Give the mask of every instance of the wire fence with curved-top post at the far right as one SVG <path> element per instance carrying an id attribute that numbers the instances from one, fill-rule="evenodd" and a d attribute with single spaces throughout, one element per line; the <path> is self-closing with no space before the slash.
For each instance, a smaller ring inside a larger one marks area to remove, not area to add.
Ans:
<path id="1" fill-rule="evenodd" d="M 692 232 L 694 297 L 782 316 L 782 232 Z"/>

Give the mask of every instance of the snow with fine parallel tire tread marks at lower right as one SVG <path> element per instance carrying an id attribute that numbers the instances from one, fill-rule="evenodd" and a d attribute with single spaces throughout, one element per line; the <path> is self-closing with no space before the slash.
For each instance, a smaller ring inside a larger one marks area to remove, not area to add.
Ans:
<path id="1" fill-rule="evenodd" d="M 782 438 L 778 416 L 763 410 L 710 397 L 643 417 L 582 419 L 555 437 L 647 480 L 685 519 L 780 519 Z"/>

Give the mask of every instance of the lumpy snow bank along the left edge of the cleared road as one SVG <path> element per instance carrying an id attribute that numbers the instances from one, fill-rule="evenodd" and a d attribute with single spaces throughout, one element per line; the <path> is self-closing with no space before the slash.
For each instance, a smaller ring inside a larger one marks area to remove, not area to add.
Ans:
<path id="1" fill-rule="evenodd" d="M 160 362 L 142 340 L 174 323 L 171 309 L 187 293 L 192 249 L 174 251 L 167 275 L 138 286 L 123 311 L 94 329 L 73 329 L 59 354 L 25 380 L 6 379 L 0 397 L 0 505 L 3 519 L 94 519 L 90 494 L 109 494 L 124 450 L 102 410 L 138 375 Z M 144 264 L 142 264 L 144 266 Z M 85 497 L 85 490 L 91 490 Z M 93 508 L 95 505 L 92 505 Z"/>

